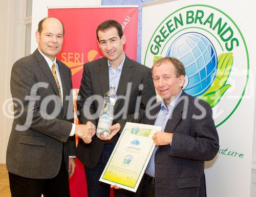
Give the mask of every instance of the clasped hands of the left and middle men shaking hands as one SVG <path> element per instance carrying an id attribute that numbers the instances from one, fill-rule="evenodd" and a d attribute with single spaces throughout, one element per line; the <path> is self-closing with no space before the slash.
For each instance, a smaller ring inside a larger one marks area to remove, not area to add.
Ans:
<path id="1" fill-rule="evenodd" d="M 95 125 L 88 121 L 86 125 L 76 124 L 75 135 L 81 138 L 84 143 L 90 143 L 96 133 Z"/>

